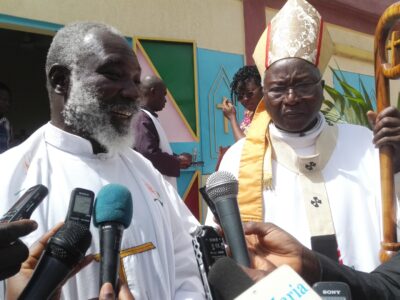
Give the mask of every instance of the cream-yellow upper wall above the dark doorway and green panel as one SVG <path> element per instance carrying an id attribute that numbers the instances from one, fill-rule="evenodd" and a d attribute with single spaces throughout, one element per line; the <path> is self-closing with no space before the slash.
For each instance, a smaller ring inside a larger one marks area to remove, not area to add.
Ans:
<path id="1" fill-rule="evenodd" d="M 193 40 L 244 53 L 240 0 L 0 0 L 0 13 L 59 24 L 102 21 L 127 36 Z"/>

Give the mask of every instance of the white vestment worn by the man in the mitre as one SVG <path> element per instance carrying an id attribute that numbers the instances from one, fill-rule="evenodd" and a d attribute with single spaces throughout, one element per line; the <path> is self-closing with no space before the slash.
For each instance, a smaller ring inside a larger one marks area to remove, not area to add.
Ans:
<path id="1" fill-rule="evenodd" d="M 295 137 L 285 135 L 272 124 L 270 134 L 290 145 L 297 155 L 305 156 L 313 154 L 316 138 L 325 126 L 322 122 L 319 132 Z M 382 234 L 379 155 L 372 138 L 372 132 L 365 127 L 339 124 L 336 147 L 322 170 L 340 259 L 365 272 L 380 264 Z M 245 138 L 228 149 L 219 170 L 238 178 L 244 142 Z M 275 223 L 310 248 L 310 229 L 298 174 L 275 160 L 272 174 L 272 189 L 263 191 L 264 221 Z M 206 224 L 213 224 L 210 211 Z"/>

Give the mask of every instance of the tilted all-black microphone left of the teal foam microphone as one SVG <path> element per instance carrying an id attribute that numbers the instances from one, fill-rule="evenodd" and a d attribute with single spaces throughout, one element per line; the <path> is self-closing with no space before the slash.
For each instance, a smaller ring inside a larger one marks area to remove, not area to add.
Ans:
<path id="1" fill-rule="evenodd" d="M 28 285 L 19 300 L 48 299 L 82 261 L 92 241 L 92 234 L 82 224 L 65 223 L 50 238 Z"/>

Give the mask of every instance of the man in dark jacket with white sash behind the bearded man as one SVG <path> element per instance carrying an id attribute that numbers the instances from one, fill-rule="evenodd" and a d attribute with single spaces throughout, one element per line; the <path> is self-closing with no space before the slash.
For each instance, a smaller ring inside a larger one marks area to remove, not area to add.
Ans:
<path id="1" fill-rule="evenodd" d="M 140 111 L 134 119 L 135 139 L 133 149 L 149 159 L 153 166 L 164 175 L 175 188 L 176 178 L 181 169 L 187 169 L 192 163 L 192 155 L 172 152 L 167 135 L 158 120 L 157 112 L 163 110 L 167 95 L 164 82 L 157 76 L 142 79 Z"/>

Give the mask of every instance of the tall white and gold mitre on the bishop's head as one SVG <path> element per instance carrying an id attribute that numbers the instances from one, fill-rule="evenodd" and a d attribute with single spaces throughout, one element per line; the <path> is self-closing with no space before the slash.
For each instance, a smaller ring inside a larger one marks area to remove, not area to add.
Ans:
<path id="1" fill-rule="evenodd" d="M 325 70 L 333 45 L 321 15 L 305 0 L 288 0 L 272 18 L 253 53 L 261 76 L 274 62 L 302 58 Z"/>

